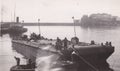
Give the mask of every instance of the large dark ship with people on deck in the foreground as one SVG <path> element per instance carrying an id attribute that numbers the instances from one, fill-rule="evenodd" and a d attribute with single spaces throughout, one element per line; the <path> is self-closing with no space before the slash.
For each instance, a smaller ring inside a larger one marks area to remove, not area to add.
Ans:
<path id="1" fill-rule="evenodd" d="M 77 67 L 76 71 L 108 71 L 107 59 L 114 52 L 114 46 L 111 42 L 98 44 L 92 40 L 90 43 L 86 43 L 80 42 L 77 37 L 73 37 L 71 40 L 67 38 L 63 40 L 59 38 L 48 39 L 40 35 L 37 36 L 35 33 L 29 39 L 25 35 L 13 39 L 13 49 L 31 59 L 34 64 L 37 57 L 41 55 L 57 55 L 60 66 L 65 68 Z"/>

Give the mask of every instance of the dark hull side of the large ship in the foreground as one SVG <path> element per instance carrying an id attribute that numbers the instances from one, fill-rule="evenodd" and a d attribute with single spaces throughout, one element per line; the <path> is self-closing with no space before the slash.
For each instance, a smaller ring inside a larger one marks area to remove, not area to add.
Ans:
<path id="1" fill-rule="evenodd" d="M 12 47 L 18 53 L 24 55 L 27 58 L 30 58 L 32 61 L 36 60 L 36 57 L 56 54 L 57 52 L 52 52 L 49 50 L 42 50 L 42 45 L 30 45 L 30 42 L 18 42 L 12 40 Z M 72 52 L 75 51 L 75 55 L 71 55 Z M 79 52 L 77 52 L 79 51 Z M 90 69 L 105 69 L 109 70 L 109 64 L 107 63 L 107 58 L 114 52 L 114 47 L 87 47 L 87 48 L 75 48 L 62 51 L 63 55 L 59 55 L 62 60 L 75 60 L 75 67 L 82 69 L 90 68 Z M 71 57 L 72 56 L 72 57 Z M 83 70 L 84 71 L 84 70 Z M 101 70 L 104 71 L 104 70 Z"/>

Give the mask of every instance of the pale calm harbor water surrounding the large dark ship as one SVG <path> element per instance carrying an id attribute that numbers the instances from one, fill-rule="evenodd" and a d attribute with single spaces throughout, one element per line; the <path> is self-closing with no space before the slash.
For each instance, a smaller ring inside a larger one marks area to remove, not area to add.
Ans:
<path id="1" fill-rule="evenodd" d="M 24 34 L 30 35 L 31 33 L 41 33 L 42 36 L 49 39 L 64 39 L 67 37 L 69 40 L 74 36 L 74 28 L 72 26 L 25 26 L 28 31 Z M 90 42 L 94 40 L 96 43 L 105 43 L 111 41 L 115 46 L 115 52 L 107 59 L 107 62 L 114 71 L 120 71 L 120 27 L 98 27 L 86 28 L 76 26 L 76 36 L 81 42 Z M 0 71 L 9 71 L 10 67 L 16 65 L 14 56 L 20 57 L 21 64 L 26 63 L 22 55 L 12 49 L 11 38 L 9 34 L 0 37 Z M 54 55 L 43 56 L 37 60 L 38 71 L 62 71 L 61 68 L 50 69 L 51 58 L 56 58 Z M 47 61 L 47 62 L 44 62 Z M 42 63 L 42 64 L 40 64 Z"/>

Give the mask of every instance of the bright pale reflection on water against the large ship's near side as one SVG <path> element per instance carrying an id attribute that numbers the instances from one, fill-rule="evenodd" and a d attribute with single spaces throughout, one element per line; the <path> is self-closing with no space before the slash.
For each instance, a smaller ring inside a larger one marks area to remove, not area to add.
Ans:
<path id="1" fill-rule="evenodd" d="M 49 56 L 43 56 L 39 57 L 36 60 L 37 63 L 37 70 L 38 71 L 60 71 L 62 68 L 55 67 L 55 63 L 57 61 L 58 56 L 57 55 L 49 55 Z M 55 67 L 55 68 L 53 68 Z"/>

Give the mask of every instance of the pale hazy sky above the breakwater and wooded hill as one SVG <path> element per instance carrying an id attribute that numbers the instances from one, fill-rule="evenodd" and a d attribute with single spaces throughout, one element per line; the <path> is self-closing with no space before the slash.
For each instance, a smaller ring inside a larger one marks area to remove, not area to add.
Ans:
<path id="1" fill-rule="evenodd" d="M 108 13 L 120 17 L 120 0 L 1 0 L 0 18 L 14 21 L 15 15 L 24 22 L 72 22 L 72 17 Z"/>

